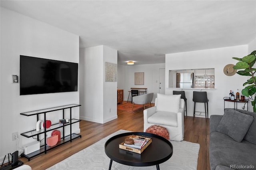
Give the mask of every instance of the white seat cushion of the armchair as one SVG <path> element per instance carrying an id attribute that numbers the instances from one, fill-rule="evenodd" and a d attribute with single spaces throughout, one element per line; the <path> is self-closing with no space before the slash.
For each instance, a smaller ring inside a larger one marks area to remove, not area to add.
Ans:
<path id="1" fill-rule="evenodd" d="M 148 123 L 177 127 L 177 113 L 158 111 L 148 118 Z"/>

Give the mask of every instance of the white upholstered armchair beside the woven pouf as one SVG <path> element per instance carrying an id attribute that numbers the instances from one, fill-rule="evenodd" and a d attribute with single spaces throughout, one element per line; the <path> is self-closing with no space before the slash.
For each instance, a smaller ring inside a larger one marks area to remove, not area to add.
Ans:
<path id="1" fill-rule="evenodd" d="M 167 128 L 170 140 L 184 138 L 184 99 L 181 95 L 157 94 L 155 106 L 144 110 L 144 132 L 152 125 Z"/>

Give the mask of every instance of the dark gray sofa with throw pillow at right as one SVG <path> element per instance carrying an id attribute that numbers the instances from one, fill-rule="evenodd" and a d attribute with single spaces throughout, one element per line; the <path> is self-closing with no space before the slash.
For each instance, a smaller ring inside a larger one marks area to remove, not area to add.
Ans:
<path id="1" fill-rule="evenodd" d="M 211 170 L 256 169 L 256 113 L 211 115 L 209 157 Z"/>

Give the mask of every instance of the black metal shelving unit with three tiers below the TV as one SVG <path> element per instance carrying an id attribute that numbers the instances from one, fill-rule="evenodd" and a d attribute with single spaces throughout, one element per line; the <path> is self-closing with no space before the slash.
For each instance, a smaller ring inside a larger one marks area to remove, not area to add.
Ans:
<path id="1" fill-rule="evenodd" d="M 27 138 L 37 136 L 37 140 L 39 140 L 39 135 L 40 134 L 44 134 L 44 145 L 40 147 L 40 150 L 37 150 L 35 152 L 32 152 L 30 154 L 26 154 L 26 155 L 22 154 L 22 156 L 26 157 L 28 159 L 28 161 L 30 161 L 31 158 L 33 158 L 35 156 L 38 156 L 39 154 L 42 154 L 42 153 L 46 154 L 46 152 L 48 150 L 56 148 L 57 146 L 60 146 L 60 145 L 65 144 L 67 142 L 72 142 L 72 140 L 75 139 L 75 138 L 78 138 L 78 137 L 81 138 L 82 136 L 80 134 L 72 133 L 72 124 L 78 123 L 78 122 L 81 121 L 79 119 L 72 119 L 72 108 L 73 107 L 79 107 L 79 106 L 81 106 L 81 105 L 72 104 L 72 105 L 65 105 L 65 106 L 60 106 L 60 107 L 52 107 L 52 108 L 48 108 L 48 109 L 41 109 L 41 110 L 37 110 L 37 111 L 30 111 L 30 112 L 20 113 L 20 115 L 24 115 L 24 116 L 36 115 L 37 121 L 39 121 L 39 115 L 44 114 L 44 122 L 46 122 L 46 113 L 62 110 L 62 119 L 64 119 L 64 110 L 65 109 L 70 109 L 69 123 L 66 123 L 64 125 L 59 125 L 59 123 L 55 123 L 55 124 L 51 125 L 50 128 L 46 128 L 46 126 L 44 126 L 44 129 L 40 129 L 39 131 L 30 130 L 28 132 L 21 133 L 20 135 L 25 136 Z M 68 136 L 64 136 L 64 134 L 65 134 L 64 127 L 66 127 L 66 126 L 70 126 L 70 134 Z M 52 130 L 58 129 L 58 128 L 63 128 L 63 132 L 62 132 L 63 137 L 62 137 L 62 139 L 56 145 L 48 146 L 46 144 L 46 133 L 50 132 Z"/>

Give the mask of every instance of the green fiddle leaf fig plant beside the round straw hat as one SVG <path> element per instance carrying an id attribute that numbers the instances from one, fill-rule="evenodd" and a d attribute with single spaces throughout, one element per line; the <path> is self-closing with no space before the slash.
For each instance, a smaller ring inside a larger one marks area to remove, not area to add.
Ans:
<path id="1" fill-rule="evenodd" d="M 233 59 L 238 60 L 238 63 L 234 65 L 234 69 L 242 69 L 237 71 L 239 75 L 250 76 L 243 86 L 248 85 L 242 89 L 242 95 L 248 97 L 251 100 L 253 111 L 256 112 L 256 68 L 253 68 L 256 62 L 256 51 L 252 51 L 249 55 L 246 55 L 242 58 L 232 57 Z"/>

